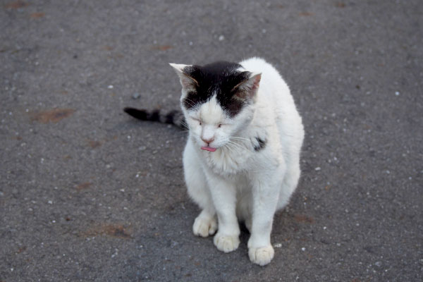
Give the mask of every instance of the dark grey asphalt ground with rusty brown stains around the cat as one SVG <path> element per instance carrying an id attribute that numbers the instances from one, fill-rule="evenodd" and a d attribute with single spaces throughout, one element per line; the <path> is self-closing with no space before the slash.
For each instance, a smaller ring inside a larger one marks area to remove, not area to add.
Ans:
<path id="1" fill-rule="evenodd" d="M 422 1 L 0 2 L 1 282 L 422 281 Z M 192 235 L 185 133 L 122 111 L 250 56 L 306 130 L 265 267 Z"/>

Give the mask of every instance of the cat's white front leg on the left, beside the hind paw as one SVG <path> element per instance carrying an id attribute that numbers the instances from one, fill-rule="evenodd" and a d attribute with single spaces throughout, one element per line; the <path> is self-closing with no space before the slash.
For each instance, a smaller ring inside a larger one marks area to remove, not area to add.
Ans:
<path id="1" fill-rule="evenodd" d="M 235 214 L 235 185 L 215 175 L 208 175 L 207 179 L 219 223 L 214 245 L 222 252 L 232 252 L 240 245 L 240 227 Z"/>

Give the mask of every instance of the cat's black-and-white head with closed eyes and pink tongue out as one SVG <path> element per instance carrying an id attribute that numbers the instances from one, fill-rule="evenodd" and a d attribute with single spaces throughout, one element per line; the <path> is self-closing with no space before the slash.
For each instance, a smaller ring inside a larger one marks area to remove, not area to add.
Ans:
<path id="1" fill-rule="evenodd" d="M 223 61 L 205 66 L 171 66 L 182 85 L 180 106 L 185 121 L 202 149 L 214 152 L 252 121 L 260 73 Z"/>

